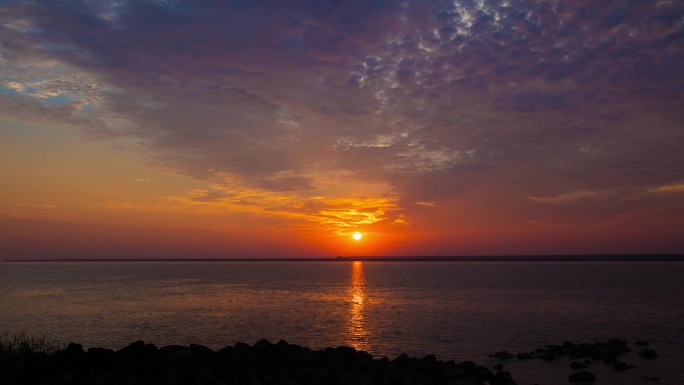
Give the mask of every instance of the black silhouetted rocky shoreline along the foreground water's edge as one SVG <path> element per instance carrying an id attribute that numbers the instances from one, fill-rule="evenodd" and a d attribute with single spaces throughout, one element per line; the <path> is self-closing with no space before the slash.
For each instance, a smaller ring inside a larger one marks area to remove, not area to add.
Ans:
<path id="1" fill-rule="evenodd" d="M 637 342 L 644 345 L 646 342 Z M 501 362 L 540 358 L 554 360 L 568 356 L 575 370 L 571 383 L 594 383 L 593 373 L 584 371 L 588 364 L 603 361 L 615 370 L 633 365 L 618 359 L 631 351 L 620 339 L 595 342 L 547 345 L 529 353 L 497 352 L 492 357 Z M 643 358 L 655 358 L 655 351 L 643 347 Z M 2 384 L 198 384 L 198 385 L 515 385 L 511 373 L 501 363 L 494 371 L 470 361 L 440 361 L 434 355 L 413 358 L 402 354 L 394 360 L 377 359 L 369 353 L 340 346 L 312 350 L 285 341 L 260 340 L 254 345 L 237 343 L 214 351 L 203 345 L 169 345 L 157 348 L 143 341 L 114 351 L 71 343 L 52 354 L 25 352 L 0 355 Z M 577 371 L 579 370 L 579 371 Z M 656 381 L 657 378 L 650 379 Z"/>

